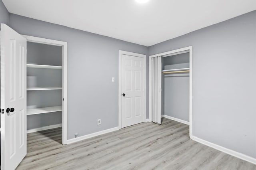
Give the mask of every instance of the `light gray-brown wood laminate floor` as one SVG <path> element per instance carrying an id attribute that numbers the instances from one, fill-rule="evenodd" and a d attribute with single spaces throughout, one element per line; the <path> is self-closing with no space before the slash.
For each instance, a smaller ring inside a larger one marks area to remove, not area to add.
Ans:
<path id="1" fill-rule="evenodd" d="M 17 170 L 256 170 L 256 165 L 189 138 L 189 127 L 164 118 L 62 145 L 61 128 L 28 134 Z"/>

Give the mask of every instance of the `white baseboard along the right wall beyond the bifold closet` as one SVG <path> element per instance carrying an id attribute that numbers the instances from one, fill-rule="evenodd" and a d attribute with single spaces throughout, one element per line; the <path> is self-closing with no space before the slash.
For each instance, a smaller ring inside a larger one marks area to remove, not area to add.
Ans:
<path id="1" fill-rule="evenodd" d="M 224 153 L 226 153 L 226 154 L 232 155 L 232 156 L 234 156 L 234 157 L 236 157 L 236 158 L 240 158 L 240 159 L 245 160 L 245 161 L 247 161 L 247 162 L 250 162 L 250 163 L 252 163 L 252 164 L 256 164 L 256 158 L 253 158 L 253 157 L 251 157 L 251 156 L 242 154 L 242 153 L 240 153 L 240 152 L 236 152 L 236 151 L 231 150 L 231 149 L 228 149 L 228 148 L 224 148 L 223 146 L 214 144 L 214 143 L 212 143 L 212 142 L 208 142 L 208 141 L 203 140 L 203 139 L 201 139 L 201 138 L 198 138 L 198 137 L 196 137 L 196 136 L 191 136 L 191 139 L 194 140 L 194 141 L 196 141 L 196 142 L 202 143 L 202 144 L 204 144 L 204 145 L 206 145 L 206 146 L 210 146 L 210 147 L 212 147 L 212 148 L 214 148 L 214 149 L 220 150 L 221 152 L 224 152 Z"/>

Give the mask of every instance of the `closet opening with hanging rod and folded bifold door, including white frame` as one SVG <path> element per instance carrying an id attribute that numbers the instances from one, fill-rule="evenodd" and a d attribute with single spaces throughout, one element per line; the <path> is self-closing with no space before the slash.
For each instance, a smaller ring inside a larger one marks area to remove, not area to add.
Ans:
<path id="1" fill-rule="evenodd" d="M 149 118 L 190 126 L 192 136 L 192 46 L 151 55 L 149 64 Z"/>

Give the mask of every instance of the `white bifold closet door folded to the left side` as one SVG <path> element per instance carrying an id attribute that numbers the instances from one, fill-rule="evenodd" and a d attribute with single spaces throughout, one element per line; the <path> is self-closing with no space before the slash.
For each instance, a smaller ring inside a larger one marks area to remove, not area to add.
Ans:
<path id="1" fill-rule="evenodd" d="M 151 71 L 150 71 L 150 116 L 151 121 L 161 124 L 161 77 L 162 77 L 162 57 L 150 58 Z"/>

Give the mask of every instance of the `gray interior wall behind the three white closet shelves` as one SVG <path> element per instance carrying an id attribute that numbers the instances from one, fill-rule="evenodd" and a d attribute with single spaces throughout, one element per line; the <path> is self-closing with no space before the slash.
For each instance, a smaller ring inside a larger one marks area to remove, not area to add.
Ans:
<path id="1" fill-rule="evenodd" d="M 62 47 L 27 42 L 27 64 L 62 66 Z M 62 69 L 27 66 L 27 87 L 62 87 Z M 61 89 L 27 91 L 27 109 L 61 105 Z M 60 123 L 62 111 L 27 115 L 27 130 Z"/>

